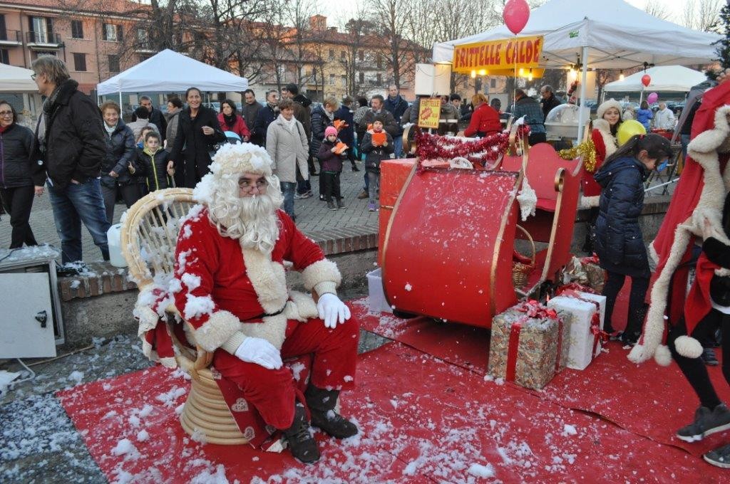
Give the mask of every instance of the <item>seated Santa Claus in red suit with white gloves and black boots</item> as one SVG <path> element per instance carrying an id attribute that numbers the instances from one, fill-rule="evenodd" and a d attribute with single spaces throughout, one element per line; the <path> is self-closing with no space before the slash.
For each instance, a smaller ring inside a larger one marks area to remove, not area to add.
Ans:
<path id="1" fill-rule="evenodd" d="M 220 149 L 193 195 L 202 205 L 180 227 L 175 305 L 194 328 L 192 339 L 213 352 L 215 369 L 283 431 L 293 456 L 317 461 L 305 406 L 327 434 L 358 433 L 335 411 L 339 392 L 354 386 L 359 334 L 337 297 L 337 265 L 279 209 L 279 179 L 261 147 Z M 288 289 L 285 260 L 301 271 L 316 303 Z M 282 359 L 303 354 L 312 354 L 311 378 L 298 398 Z"/>

